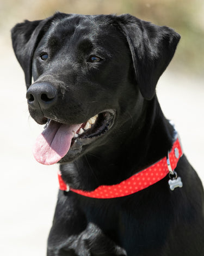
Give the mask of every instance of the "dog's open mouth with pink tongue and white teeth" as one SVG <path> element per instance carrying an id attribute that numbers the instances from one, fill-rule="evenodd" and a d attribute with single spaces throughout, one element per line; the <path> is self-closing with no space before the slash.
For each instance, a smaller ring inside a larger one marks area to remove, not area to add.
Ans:
<path id="1" fill-rule="evenodd" d="M 59 162 L 70 149 L 82 147 L 103 136 L 112 128 L 115 111 L 106 110 L 81 124 L 65 124 L 48 120 L 44 131 L 38 136 L 33 154 L 46 165 Z"/>

